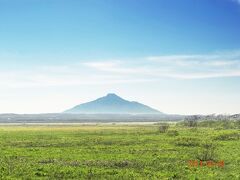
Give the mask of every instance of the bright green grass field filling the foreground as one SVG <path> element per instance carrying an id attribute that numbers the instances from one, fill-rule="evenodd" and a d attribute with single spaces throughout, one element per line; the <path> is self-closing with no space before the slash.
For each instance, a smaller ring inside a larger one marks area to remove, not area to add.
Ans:
<path id="1" fill-rule="evenodd" d="M 164 133 L 159 125 L 5 125 L 0 178 L 240 179 L 239 132 L 174 124 Z"/>

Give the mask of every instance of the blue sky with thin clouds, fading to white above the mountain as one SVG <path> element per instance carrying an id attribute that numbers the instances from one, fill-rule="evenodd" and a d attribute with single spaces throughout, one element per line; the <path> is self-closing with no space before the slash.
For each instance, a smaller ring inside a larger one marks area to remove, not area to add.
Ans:
<path id="1" fill-rule="evenodd" d="M 240 113 L 239 0 L 0 0 L 0 113 L 107 93 L 170 114 Z"/>

